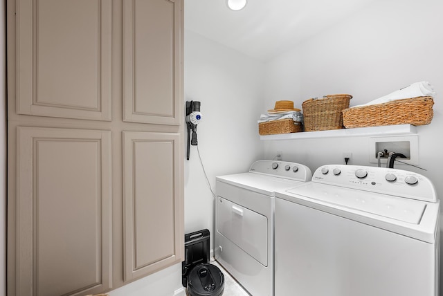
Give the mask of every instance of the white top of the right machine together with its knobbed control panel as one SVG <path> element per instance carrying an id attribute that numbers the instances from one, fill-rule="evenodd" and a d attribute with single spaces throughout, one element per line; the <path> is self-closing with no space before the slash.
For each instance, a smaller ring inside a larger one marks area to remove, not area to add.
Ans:
<path id="1" fill-rule="evenodd" d="M 323 165 L 275 196 L 423 241 L 435 240 L 440 203 L 428 178 L 401 169 Z"/>

